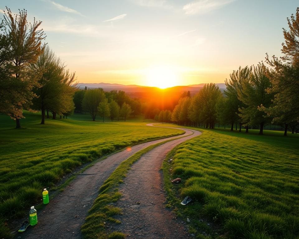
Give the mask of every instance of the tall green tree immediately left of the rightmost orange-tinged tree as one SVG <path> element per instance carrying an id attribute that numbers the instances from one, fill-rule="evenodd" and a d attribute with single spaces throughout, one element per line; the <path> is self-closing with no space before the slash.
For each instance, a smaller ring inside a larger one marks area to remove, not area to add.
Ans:
<path id="1" fill-rule="evenodd" d="M 246 106 L 239 108 L 243 122 L 259 124 L 259 134 L 263 134 L 264 124 L 270 122 L 265 112 L 259 110 L 260 105 L 271 105 L 273 94 L 267 94 L 266 90 L 271 87 L 269 78 L 266 76 L 266 67 L 263 63 L 252 67 L 253 71 L 248 80 L 242 82 L 242 92 L 238 91 L 238 98 Z"/>

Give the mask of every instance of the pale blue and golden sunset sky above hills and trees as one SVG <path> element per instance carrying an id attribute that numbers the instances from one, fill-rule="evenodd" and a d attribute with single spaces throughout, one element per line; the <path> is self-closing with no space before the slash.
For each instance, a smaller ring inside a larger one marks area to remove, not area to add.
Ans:
<path id="1" fill-rule="evenodd" d="M 239 66 L 279 56 L 282 28 L 299 3 L 1 0 L 5 6 L 42 21 L 45 42 L 77 82 L 167 87 L 223 83 Z"/>

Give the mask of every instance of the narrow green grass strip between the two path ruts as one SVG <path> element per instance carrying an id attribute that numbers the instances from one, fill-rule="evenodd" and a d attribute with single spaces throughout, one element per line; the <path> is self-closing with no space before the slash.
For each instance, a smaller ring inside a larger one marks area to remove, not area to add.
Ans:
<path id="1" fill-rule="evenodd" d="M 184 138 L 186 136 L 179 138 Z M 126 235 L 122 232 L 112 232 L 109 228 L 107 228 L 109 223 L 121 223 L 119 220 L 113 218 L 113 216 L 122 213 L 120 208 L 113 205 L 122 196 L 119 192 L 118 186 L 123 183 L 123 179 L 126 177 L 126 174 L 132 164 L 140 159 L 143 154 L 172 140 L 174 139 L 165 140 L 140 150 L 125 161 L 121 162 L 121 164 L 112 172 L 109 178 L 100 187 L 99 195 L 95 199 L 92 208 L 88 211 L 89 215 L 86 217 L 85 223 L 81 227 L 81 232 L 85 239 L 123 239 L 126 237 Z"/>

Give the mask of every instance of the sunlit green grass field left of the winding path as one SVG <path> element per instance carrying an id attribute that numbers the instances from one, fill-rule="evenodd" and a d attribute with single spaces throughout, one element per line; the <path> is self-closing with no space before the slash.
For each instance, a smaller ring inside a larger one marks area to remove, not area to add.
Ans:
<path id="1" fill-rule="evenodd" d="M 49 188 L 65 173 L 107 153 L 156 138 L 181 134 L 180 130 L 153 128 L 146 122 L 89 121 L 86 115 L 46 120 L 26 112 L 22 129 L 0 115 L 0 216 L 23 215 L 40 203 L 42 188 Z M 77 119 L 77 120 L 73 120 Z M 140 119 L 139 119 L 140 120 Z M 142 121 L 142 120 L 141 120 Z M 0 229 L 1 234 L 1 229 Z"/>

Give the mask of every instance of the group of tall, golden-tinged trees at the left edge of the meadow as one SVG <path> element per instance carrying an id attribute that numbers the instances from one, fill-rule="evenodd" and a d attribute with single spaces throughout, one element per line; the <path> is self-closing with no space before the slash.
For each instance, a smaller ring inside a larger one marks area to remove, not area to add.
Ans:
<path id="1" fill-rule="evenodd" d="M 0 112 L 16 120 L 16 128 L 24 109 L 41 110 L 41 124 L 45 111 L 55 119 L 74 110 L 75 73 L 43 43 L 41 23 L 28 23 L 25 9 L 12 14 L 7 7 L 0 23 Z"/>

